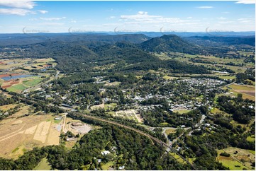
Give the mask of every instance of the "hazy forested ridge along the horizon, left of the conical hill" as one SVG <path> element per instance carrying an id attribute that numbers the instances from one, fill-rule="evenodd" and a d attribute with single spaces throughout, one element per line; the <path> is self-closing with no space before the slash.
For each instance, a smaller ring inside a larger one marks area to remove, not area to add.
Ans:
<path id="1" fill-rule="evenodd" d="M 108 35 L 102 33 L 38 33 L 38 34 L 0 34 L 0 45 L 30 45 L 40 42 L 83 42 L 96 44 L 101 42 L 113 44 L 116 42 L 141 43 L 150 40 L 143 34 Z"/>

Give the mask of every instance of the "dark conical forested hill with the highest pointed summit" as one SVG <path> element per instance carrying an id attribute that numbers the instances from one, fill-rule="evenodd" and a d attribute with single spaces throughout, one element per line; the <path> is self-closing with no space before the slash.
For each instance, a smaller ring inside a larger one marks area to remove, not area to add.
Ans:
<path id="1" fill-rule="evenodd" d="M 142 42 L 140 47 L 148 52 L 199 53 L 199 47 L 189 44 L 177 35 L 163 35 L 162 37 L 155 37 Z"/>

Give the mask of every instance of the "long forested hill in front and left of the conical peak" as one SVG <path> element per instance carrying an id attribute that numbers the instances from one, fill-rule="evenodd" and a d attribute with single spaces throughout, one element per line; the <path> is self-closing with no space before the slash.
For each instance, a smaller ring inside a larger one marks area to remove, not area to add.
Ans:
<path id="1" fill-rule="evenodd" d="M 119 71 L 148 71 L 162 68 L 170 69 L 174 73 L 208 73 L 204 66 L 191 66 L 176 60 L 162 61 L 155 55 L 128 42 L 117 42 L 114 45 L 95 47 L 92 50 L 99 55 L 100 61 L 105 64 L 113 64 L 118 61 L 128 64 L 121 66 Z"/>

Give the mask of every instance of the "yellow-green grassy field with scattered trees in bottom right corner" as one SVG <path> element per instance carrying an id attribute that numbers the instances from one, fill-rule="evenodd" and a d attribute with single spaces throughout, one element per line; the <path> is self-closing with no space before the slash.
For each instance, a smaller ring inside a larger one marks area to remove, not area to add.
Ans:
<path id="1" fill-rule="evenodd" d="M 223 152 L 229 153 L 230 157 L 221 156 Z M 251 165 L 255 161 L 255 155 L 241 148 L 228 147 L 218 150 L 217 160 L 230 170 L 254 170 Z"/>

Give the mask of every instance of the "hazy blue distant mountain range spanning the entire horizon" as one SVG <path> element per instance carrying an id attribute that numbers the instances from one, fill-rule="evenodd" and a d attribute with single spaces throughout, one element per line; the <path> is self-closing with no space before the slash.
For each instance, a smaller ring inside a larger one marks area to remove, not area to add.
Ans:
<path id="1" fill-rule="evenodd" d="M 150 40 L 152 37 L 162 37 L 163 35 L 177 35 L 189 42 L 202 45 L 201 41 L 206 37 L 226 41 L 227 37 L 255 37 L 255 32 L 140 32 L 140 33 L 114 33 L 114 32 L 99 32 L 99 33 L 38 33 L 38 34 L 0 34 L 0 45 L 29 45 L 45 41 L 62 41 L 62 42 L 131 42 L 141 43 Z M 189 37 L 189 38 L 187 38 Z M 204 37 L 204 38 L 200 38 Z M 200 40 L 200 41 L 199 41 Z M 214 40 L 214 41 L 215 41 Z M 214 42 L 212 41 L 212 42 Z M 232 43 L 232 42 L 231 42 Z M 203 42 L 204 44 L 204 42 Z M 253 45 L 249 43 L 249 45 Z"/>

